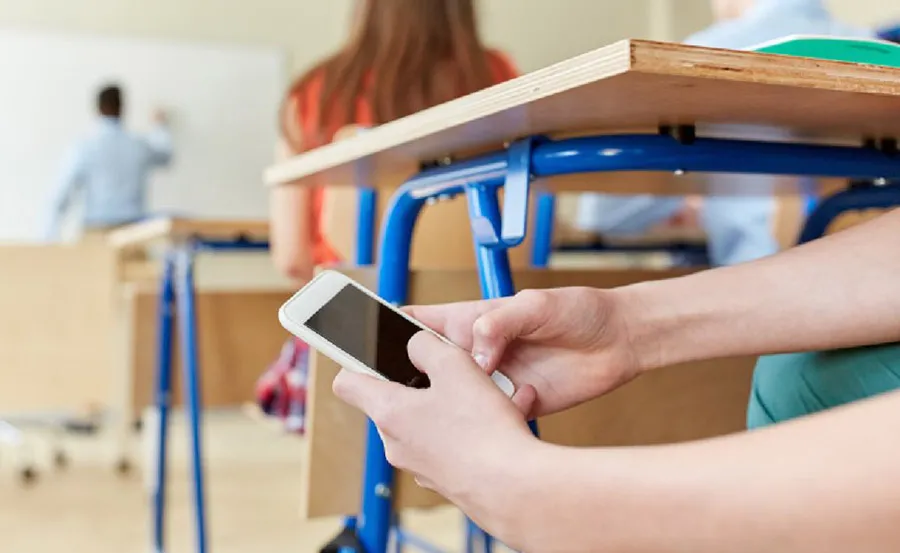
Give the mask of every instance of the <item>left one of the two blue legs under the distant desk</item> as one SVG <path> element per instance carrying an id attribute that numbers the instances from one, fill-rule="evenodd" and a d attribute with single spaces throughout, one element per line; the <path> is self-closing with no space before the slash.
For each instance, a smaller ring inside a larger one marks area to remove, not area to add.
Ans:
<path id="1" fill-rule="evenodd" d="M 156 433 L 156 470 L 153 492 L 153 546 L 156 553 L 165 551 L 165 510 L 166 510 L 166 445 L 169 431 L 169 407 L 172 403 L 172 323 L 175 316 L 175 262 L 171 254 L 166 256 L 163 267 L 162 285 L 159 291 L 158 331 L 156 350 L 156 413 L 155 428 L 148 425 L 147 431 Z M 130 391 L 129 391 L 130 392 Z M 127 413 L 130 417 L 130 413 Z"/>

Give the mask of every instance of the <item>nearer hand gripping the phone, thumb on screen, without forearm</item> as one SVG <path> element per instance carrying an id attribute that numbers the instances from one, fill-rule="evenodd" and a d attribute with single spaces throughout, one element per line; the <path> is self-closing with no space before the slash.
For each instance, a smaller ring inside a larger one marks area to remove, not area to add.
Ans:
<path id="1" fill-rule="evenodd" d="M 498 512 L 510 512 L 509 505 L 516 504 L 521 475 L 540 461 L 536 453 L 544 446 L 465 351 L 420 332 L 408 352 L 428 375 L 428 389 L 344 370 L 334 381 L 334 392 L 375 423 L 388 462 L 415 475 L 420 485 L 476 522 L 490 525 Z M 523 399 L 524 407 L 530 407 Z"/>

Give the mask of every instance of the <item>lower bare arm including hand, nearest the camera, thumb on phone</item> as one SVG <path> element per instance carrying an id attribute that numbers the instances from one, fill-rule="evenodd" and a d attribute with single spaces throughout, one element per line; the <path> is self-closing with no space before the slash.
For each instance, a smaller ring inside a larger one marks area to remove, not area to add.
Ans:
<path id="1" fill-rule="evenodd" d="M 900 547 L 900 393 L 751 433 L 578 449 L 532 437 L 527 405 L 513 405 L 464 350 L 420 333 L 409 353 L 429 389 L 343 371 L 335 392 L 375 421 L 394 466 L 515 550 Z"/>

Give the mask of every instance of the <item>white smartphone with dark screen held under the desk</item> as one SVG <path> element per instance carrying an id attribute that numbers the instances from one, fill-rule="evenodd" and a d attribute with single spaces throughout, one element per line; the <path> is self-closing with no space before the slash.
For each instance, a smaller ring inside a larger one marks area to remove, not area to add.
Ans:
<path id="1" fill-rule="evenodd" d="M 411 388 L 428 376 L 409 360 L 406 345 L 422 330 L 450 340 L 388 304 L 346 275 L 324 271 L 278 312 L 281 325 L 342 367 Z M 457 346 L 458 347 L 458 346 Z M 512 397 L 512 381 L 499 371 L 494 383 Z"/>

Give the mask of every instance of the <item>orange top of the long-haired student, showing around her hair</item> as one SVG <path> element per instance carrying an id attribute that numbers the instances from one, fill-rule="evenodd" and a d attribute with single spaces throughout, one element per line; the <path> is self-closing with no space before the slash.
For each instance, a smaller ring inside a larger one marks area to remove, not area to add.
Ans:
<path id="1" fill-rule="evenodd" d="M 499 84 L 518 76 L 515 66 L 508 57 L 496 51 L 489 50 L 487 52 L 488 63 L 491 70 L 494 83 Z M 295 102 L 299 114 L 298 123 L 302 131 L 305 149 L 314 144 L 310 141 L 313 137 L 319 135 L 321 122 L 318 120 L 319 102 L 322 97 L 322 87 L 325 79 L 323 75 L 314 76 L 306 87 L 298 90 L 294 97 L 289 101 Z M 357 100 L 357 121 L 354 123 L 359 126 L 372 126 L 374 117 L 372 115 L 371 106 L 360 97 Z M 325 206 L 325 189 L 316 187 L 312 191 L 312 201 L 310 202 L 310 228 L 312 229 L 311 242 L 313 247 L 313 262 L 316 265 L 329 265 L 341 261 L 340 256 L 328 242 L 322 231 L 322 214 Z"/>

